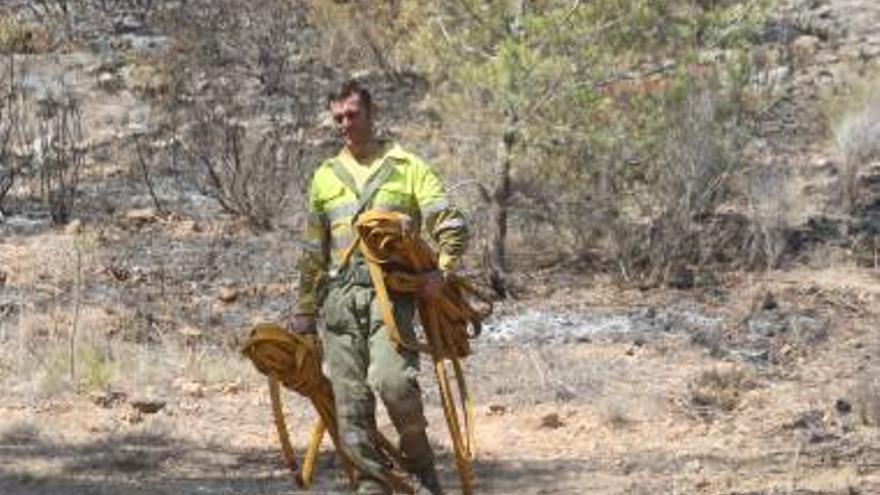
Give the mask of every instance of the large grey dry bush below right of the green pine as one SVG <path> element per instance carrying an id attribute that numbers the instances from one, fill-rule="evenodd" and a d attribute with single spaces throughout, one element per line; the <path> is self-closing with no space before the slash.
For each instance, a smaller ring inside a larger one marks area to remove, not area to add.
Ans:
<path id="1" fill-rule="evenodd" d="M 626 279 L 672 283 L 725 248 L 719 240 L 728 236 L 709 220 L 729 198 L 732 178 L 742 167 L 742 129 L 722 111 L 721 97 L 711 86 L 689 84 L 681 98 L 670 100 L 657 130 L 657 155 L 645 165 L 647 184 L 628 185 L 625 168 L 609 179 L 612 190 L 630 192 L 605 194 L 602 207 L 615 262 Z M 639 205 L 635 214 L 621 201 L 627 197 Z"/>

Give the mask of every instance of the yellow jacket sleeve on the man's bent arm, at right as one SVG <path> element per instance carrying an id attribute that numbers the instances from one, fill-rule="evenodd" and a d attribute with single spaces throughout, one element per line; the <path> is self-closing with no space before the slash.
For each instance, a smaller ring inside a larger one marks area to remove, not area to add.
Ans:
<path id="1" fill-rule="evenodd" d="M 440 270 L 454 270 L 461 262 L 468 244 L 464 215 L 449 204 L 443 182 L 424 162 L 416 161 L 415 196 L 422 215 L 422 225 L 437 243 Z"/>

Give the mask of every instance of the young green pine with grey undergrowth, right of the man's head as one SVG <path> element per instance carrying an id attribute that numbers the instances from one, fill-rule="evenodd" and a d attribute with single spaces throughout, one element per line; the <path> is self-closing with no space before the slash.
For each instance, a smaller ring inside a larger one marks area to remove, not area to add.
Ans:
<path id="1" fill-rule="evenodd" d="M 374 35 L 387 65 L 427 80 L 437 119 L 420 137 L 468 185 L 462 197 L 499 294 L 509 233 L 534 243 L 546 236 L 523 233 L 536 224 L 575 256 L 610 241 L 625 278 L 699 262 L 686 247 L 741 164 L 747 53 L 764 2 L 314 8 L 327 33 L 346 13 L 382 18 L 387 29 Z"/>

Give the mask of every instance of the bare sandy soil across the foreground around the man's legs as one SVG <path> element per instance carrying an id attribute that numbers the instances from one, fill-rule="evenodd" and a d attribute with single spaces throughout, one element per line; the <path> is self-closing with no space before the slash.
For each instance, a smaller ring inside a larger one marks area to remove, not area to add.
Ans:
<path id="1" fill-rule="evenodd" d="M 705 321 L 724 322 L 720 341 L 686 325 L 564 344 L 496 341 L 490 325 L 468 361 L 477 493 L 880 493 L 880 274 L 778 274 L 733 282 L 702 301 L 693 293 L 581 290 L 555 304 L 506 307 L 499 319 L 559 313 L 566 301 L 569 314 L 644 318 L 642 310 L 655 308 L 656 318 L 684 301 L 711 317 Z M 775 308 L 761 307 L 768 292 Z M 827 327 L 797 335 L 789 325 L 768 337 L 766 354 L 736 352 L 757 338 L 749 320 L 791 314 Z M 554 325 L 548 318 L 546 330 Z M 238 376 L 178 377 L 158 394 L 154 413 L 141 411 L 137 390 L 34 401 L 4 395 L 0 492 L 299 493 L 281 462 L 262 379 L 241 357 L 226 358 Z M 430 435 L 455 493 L 429 369 L 422 381 Z M 289 411 L 302 445 L 310 412 L 293 396 Z M 390 433 L 387 421 L 383 428 Z M 308 493 L 344 493 L 329 442 L 324 448 Z"/>

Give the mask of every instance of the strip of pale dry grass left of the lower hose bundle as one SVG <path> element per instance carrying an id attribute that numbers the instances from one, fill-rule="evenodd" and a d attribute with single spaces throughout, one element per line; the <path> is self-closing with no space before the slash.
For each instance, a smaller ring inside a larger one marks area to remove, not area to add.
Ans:
<path id="1" fill-rule="evenodd" d="M 179 335 L 158 341 L 131 340 L 121 332 L 137 319 L 130 311 L 86 307 L 80 312 L 71 374 L 73 311 L 58 305 L 26 311 L 4 328 L 0 365 L 24 397 L 47 398 L 96 390 L 173 392 L 175 380 L 204 385 L 256 379 L 250 364 L 232 346 L 210 345 Z"/>

